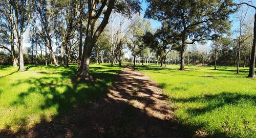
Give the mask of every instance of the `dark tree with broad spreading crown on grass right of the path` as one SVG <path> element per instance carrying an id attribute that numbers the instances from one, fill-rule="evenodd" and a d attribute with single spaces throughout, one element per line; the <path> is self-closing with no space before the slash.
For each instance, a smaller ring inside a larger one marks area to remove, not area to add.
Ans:
<path id="1" fill-rule="evenodd" d="M 184 70 L 186 45 L 211 39 L 215 30 L 221 32 L 228 29 L 229 15 L 234 12 L 232 0 L 147 0 L 147 2 L 149 5 L 146 9 L 146 17 L 159 21 L 167 20 L 174 30 L 180 32 L 180 70 Z M 186 42 L 187 39 L 191 42 Z"/>

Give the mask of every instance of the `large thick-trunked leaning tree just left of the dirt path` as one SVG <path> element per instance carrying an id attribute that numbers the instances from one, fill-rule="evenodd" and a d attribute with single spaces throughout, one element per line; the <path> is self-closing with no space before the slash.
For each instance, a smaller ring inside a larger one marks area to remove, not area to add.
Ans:
<path id="1" fill-rule="evenodd" d="M 92 48 L 97 39 L 104 30 L 112 11 L 119 12 L 125 16 L 131 16 L 141 10 L 138 0 L 89 0 L 88 1 L 88 23 L 86 32 L 86 43 L 84 43 L 81 66 L 78 69 L 78 76 L 81 78 L 89 78 L 90 56 Z M 95 26 L 96 21 L 100 16 L 103 16 L 99 21 L 99 25 Z"/>

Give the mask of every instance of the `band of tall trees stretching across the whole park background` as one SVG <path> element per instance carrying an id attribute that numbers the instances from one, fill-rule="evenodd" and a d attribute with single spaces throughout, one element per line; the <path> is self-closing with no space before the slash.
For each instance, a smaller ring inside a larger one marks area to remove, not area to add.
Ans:
<path id="1" fill-rule="evenodd" d="M 146 2 L 143 18 L 139 0 L 1 1 L 0 63 L 12 63 L 19 71 L 25 70 L 24 63 L 77 63 L 82 78 L 90 76 L 90 62 L 121 66 L 124 61 L 179 63 L 180 70 L 185 64 L 218 64 L 237 66 L 238 73 L 242 65 L 250 66 L 249 76 L 254 76 L 252 21 L 245 19 L 248 7 L 231 0 Z M 230 32 L 233 13 L 240 21 L 236 32 Z M 152 29 L 147 19 L 161 26 Z M 30 45 L 23 45 L 24 37 Z"/>

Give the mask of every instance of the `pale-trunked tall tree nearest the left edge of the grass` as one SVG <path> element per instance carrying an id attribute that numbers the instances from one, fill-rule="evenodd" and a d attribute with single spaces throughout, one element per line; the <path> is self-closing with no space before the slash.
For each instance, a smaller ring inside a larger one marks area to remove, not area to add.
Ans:
<path id="1" fill-rule="evenodd" d="M 23 34 L 26 32 L 33 9 L 32 1 L 29 0 L 9 0 L 0 2 L 0 34 L 5 42 L 0 45 L 11 53 L 13 66 L 17 66 L 18 71 L 25 71 L 24 52 L 23 52 Z M 14 42 L 15 39 L 15 42 Z M 7 45 L 10 45 L 10 48 Z M 18 57 L 15 56 L 15 48 L 18 49 Z M 19 60 L 18 60 L 19 59 Z"/>

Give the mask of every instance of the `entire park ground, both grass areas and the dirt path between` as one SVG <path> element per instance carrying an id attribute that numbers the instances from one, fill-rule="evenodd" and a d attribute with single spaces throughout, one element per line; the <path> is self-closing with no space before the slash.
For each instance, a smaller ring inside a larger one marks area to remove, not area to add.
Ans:
<path id="1" fill-rule="evenodd" d="M 233 67 L 0 66 L 0 137 L 256 137 L 255 79 Z"/>

